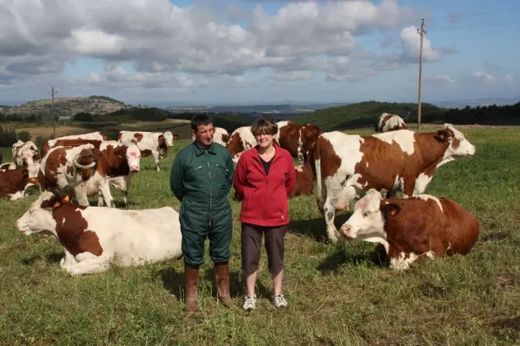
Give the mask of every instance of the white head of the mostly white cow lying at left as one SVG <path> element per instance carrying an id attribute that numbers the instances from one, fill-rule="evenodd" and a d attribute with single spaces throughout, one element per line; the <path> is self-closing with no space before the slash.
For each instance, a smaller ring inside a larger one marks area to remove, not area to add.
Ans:
<path id="1" fill-rule="evenodd" d="M 52 192 L 44 191 L 36 201 L 33 201 L 29 210 L 16 221 L 15 226 L 25 236 L 33 233 L 45 233 L 58 238 L 56 220 L 52 217 L 52 211 L 69 202 L 69 196 L 60 197 Z"/>

